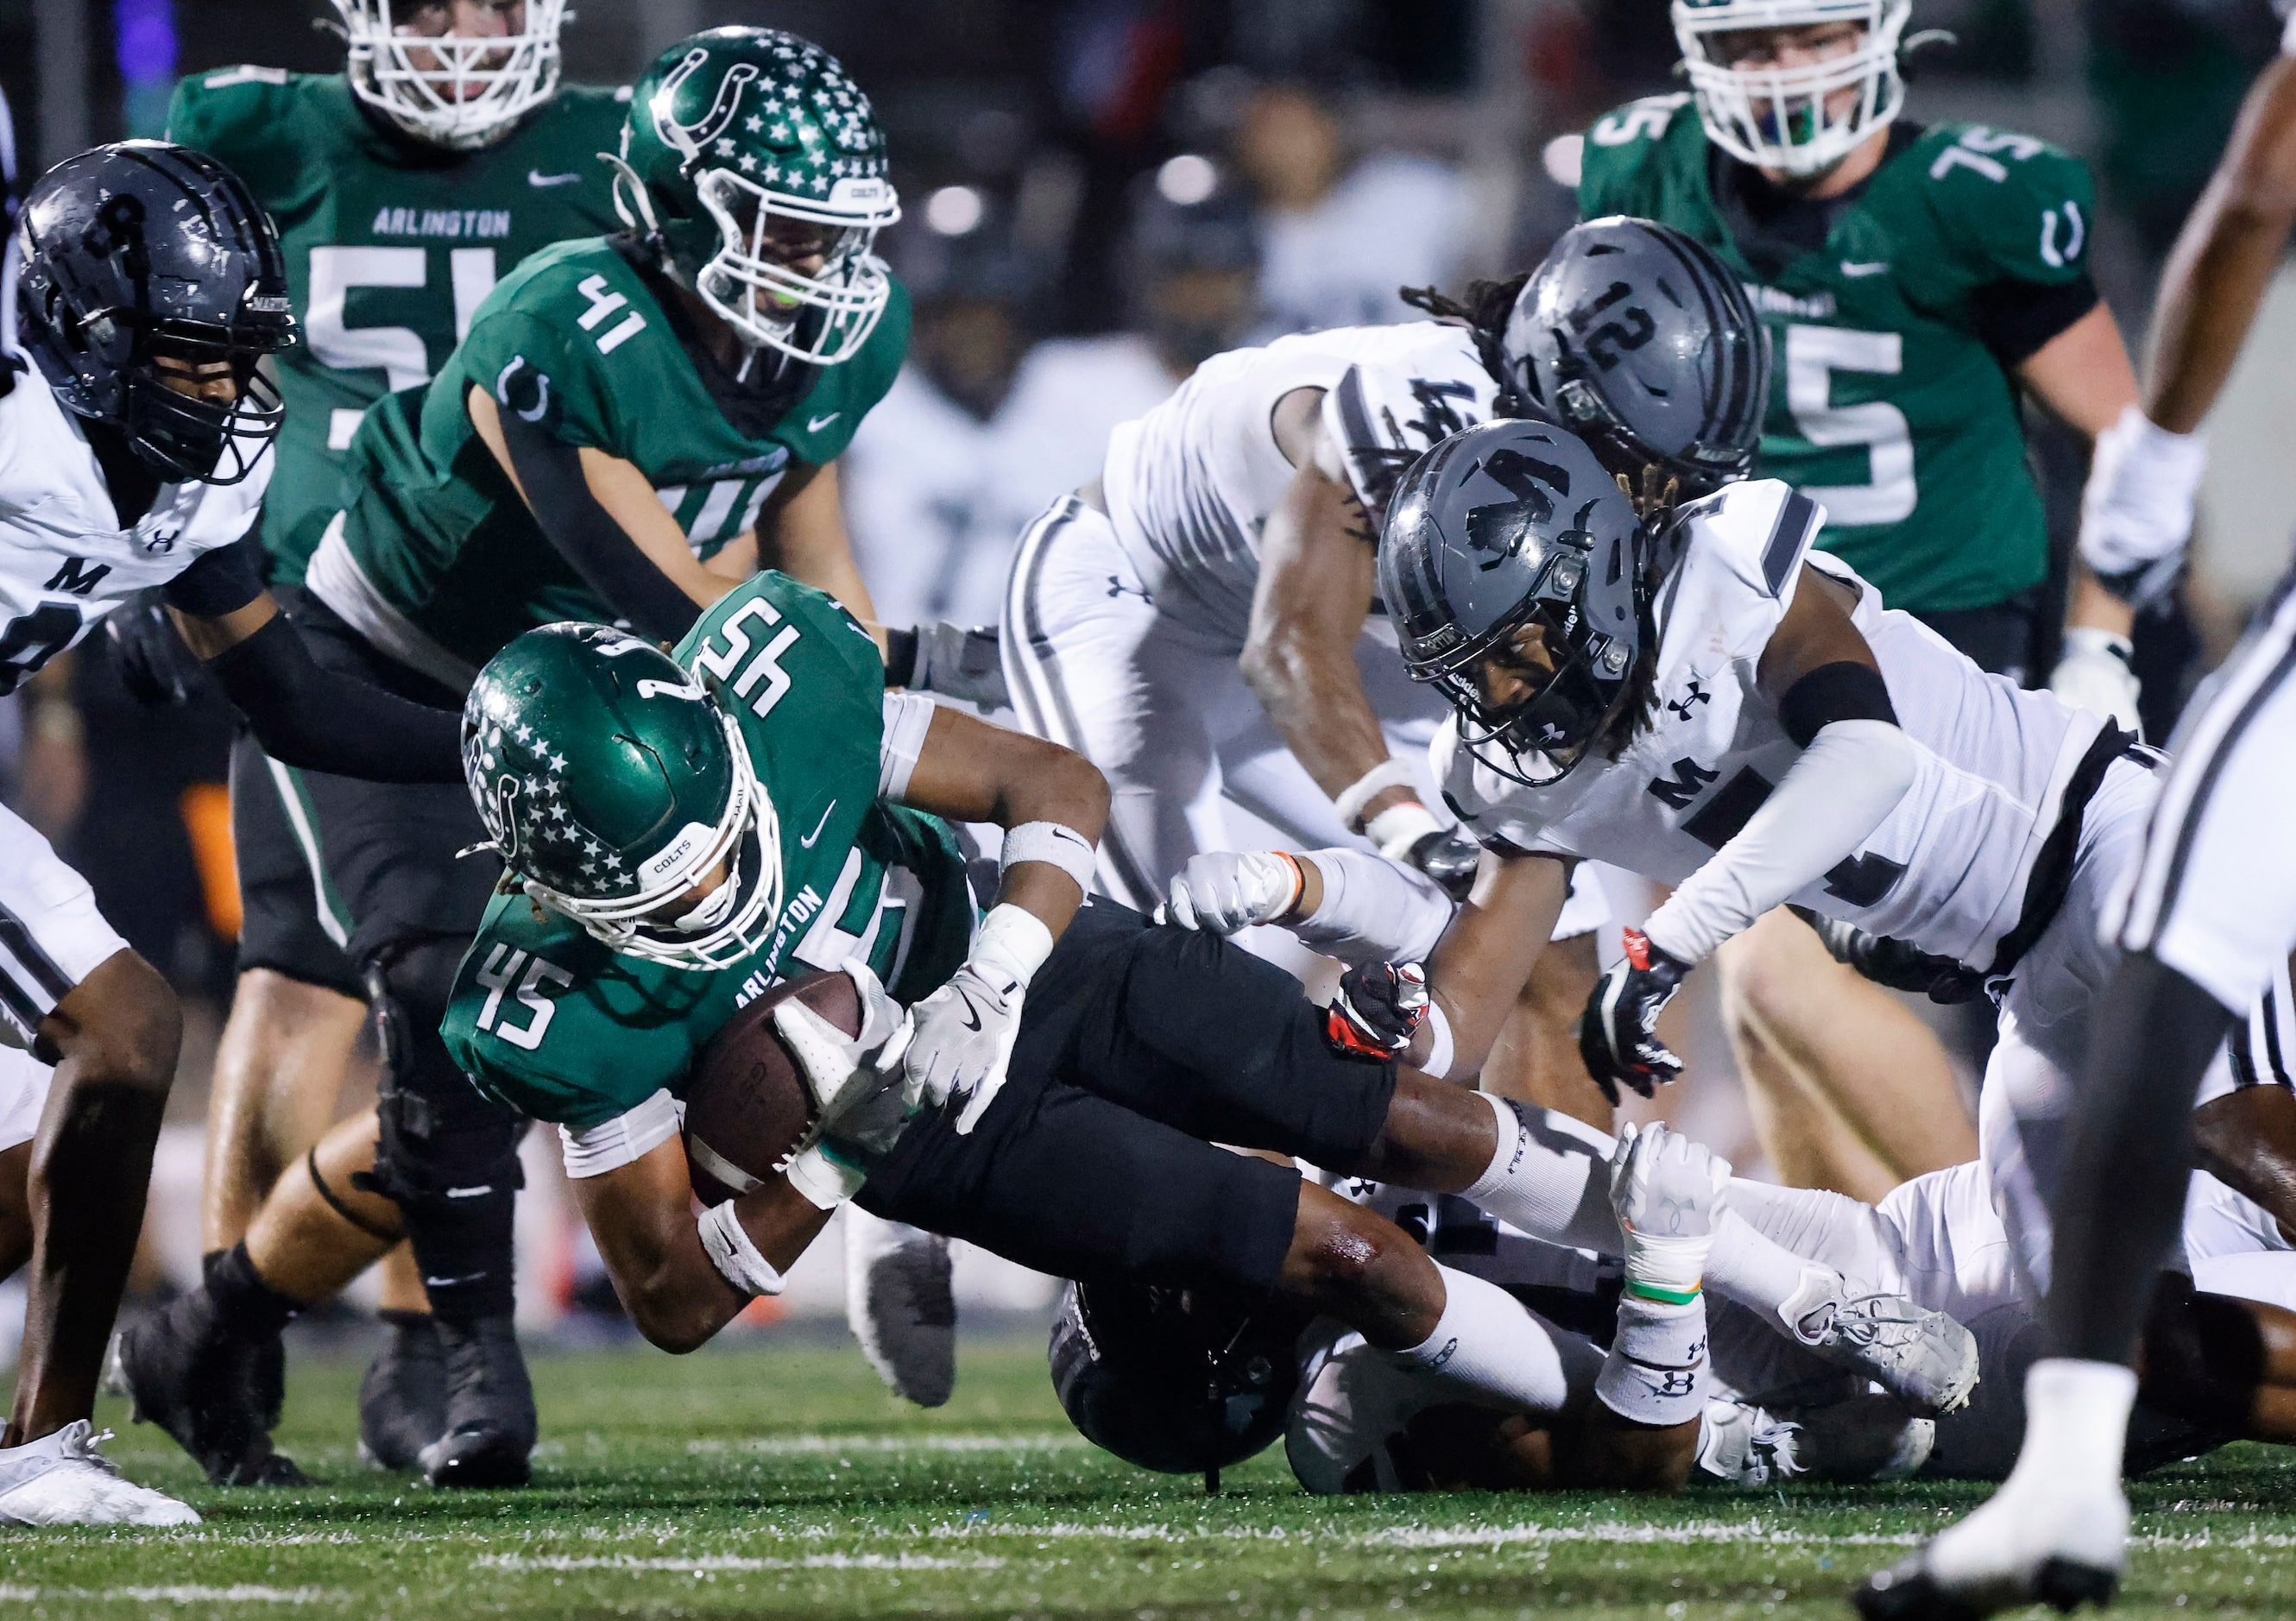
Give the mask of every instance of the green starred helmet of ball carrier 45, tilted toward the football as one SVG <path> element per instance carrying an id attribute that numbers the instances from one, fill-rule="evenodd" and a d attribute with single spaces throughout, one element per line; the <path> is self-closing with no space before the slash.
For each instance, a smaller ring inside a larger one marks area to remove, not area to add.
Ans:
<path id="1" fill-rule="evenodd" d="M 723 969 L 781 914 L 781 822 L 742 728 L 627 631 L 544 625 L 494 654 L 461 707 L 461 774 L 487 824 L 478 847 L 620 953 Z"/>

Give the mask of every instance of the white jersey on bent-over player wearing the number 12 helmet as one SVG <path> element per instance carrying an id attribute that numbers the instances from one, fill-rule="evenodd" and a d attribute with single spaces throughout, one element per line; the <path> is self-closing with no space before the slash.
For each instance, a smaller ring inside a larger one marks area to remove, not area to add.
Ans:
<path id="1" fill-rule="evenodd" d="M 1261 530 L 1293 478 L 1274 409 L 1295 388 L 1325 390 L 1325 422 L 1373 510 L 1421 450 L 1486 420 L 1497 393 L 1463 326 L 1341 326 L 1212 356 L 1120 425 L 1100 480 L 1118 546 L 1164 615 L 1235 647 L 1251 622 Z"/>

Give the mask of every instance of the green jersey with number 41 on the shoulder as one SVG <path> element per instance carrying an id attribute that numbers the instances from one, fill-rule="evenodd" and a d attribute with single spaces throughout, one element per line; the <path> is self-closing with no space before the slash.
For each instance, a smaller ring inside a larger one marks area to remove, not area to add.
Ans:
<path id="1" fill-rule="evenodd" d="M 707 560 L 758 523 L 792 466 L 833 462 L 900 370 L 909 305 L 895 287 L 859 356 L 792 363 L 778 386 L 748 390 L 700 351 L 634 253 L 625 236 L 544 248 L 487 294 L 429 388 L 386 400 L 351 441 L 351 505 L 310 585 L 457 691 L 519 631 L 618 618 L 471 427 L 473 388 L 560 443 L 634 464 Z"/>

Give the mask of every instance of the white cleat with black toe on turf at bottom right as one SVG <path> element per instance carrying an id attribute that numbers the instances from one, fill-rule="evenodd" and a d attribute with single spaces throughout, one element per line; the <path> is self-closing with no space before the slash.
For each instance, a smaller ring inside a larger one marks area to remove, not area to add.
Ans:
<path id="1" fill-rule="evenodd" d="M 2128 1561 L 2128 1497 L 2018 1476 L 1929 1548 L 1876 1570 L 1853 1593 L 1867 1621 L 1977 1621 L 2043 1603 L 2110 1605 Z"/>

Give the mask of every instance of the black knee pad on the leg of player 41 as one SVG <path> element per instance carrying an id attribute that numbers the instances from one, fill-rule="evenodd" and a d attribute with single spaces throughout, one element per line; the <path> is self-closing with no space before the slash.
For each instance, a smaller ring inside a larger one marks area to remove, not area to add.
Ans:
<path id="1" fill-rule="evenodd" d="M 365 1185 L 400 1205 L 510 1194 L 523 1182 L 526 1118 L 478 1091 L 439 1036 L 461 951 L 443 934 L 393 941 L 363 969 L 383 1045 L 381 1132 Z"/>

